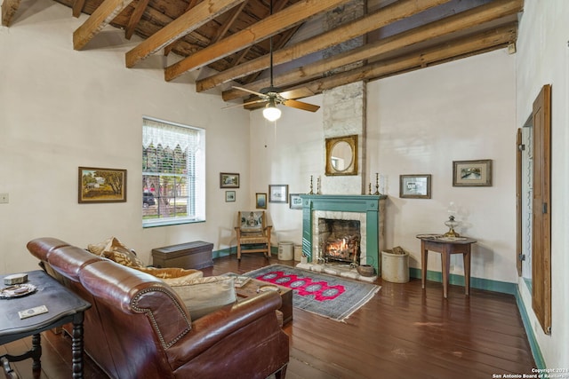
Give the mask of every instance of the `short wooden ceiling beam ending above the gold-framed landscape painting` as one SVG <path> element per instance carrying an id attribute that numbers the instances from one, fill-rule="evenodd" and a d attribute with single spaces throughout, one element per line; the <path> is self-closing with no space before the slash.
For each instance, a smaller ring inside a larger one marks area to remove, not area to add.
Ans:
<path id="1" fill-rule="evenodd" d="M 105 28 L 118 13 L 123 12 L 124 8 L 131 3 L 132 0 L 105 0 L 92 12 L 83 25 L 73 32 L 73 48 L 75 50 L 83 49 L 93 36 L 96 36 L 102 28 Z"/>

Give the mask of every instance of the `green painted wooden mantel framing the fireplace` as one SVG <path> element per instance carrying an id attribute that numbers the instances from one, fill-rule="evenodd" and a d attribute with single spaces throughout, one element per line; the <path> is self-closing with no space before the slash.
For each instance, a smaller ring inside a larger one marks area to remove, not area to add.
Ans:
<path id="1" fill-rule="evenodd" d="M 302 254 L 312 262 L 315 211 L 365 213 L 365 263 L 380 272 L 386 195 L 302 194 Z"/>

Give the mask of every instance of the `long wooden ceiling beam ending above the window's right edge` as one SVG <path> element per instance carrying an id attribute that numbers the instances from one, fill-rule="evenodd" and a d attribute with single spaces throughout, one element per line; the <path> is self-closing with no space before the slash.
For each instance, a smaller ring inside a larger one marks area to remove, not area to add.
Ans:
<path id="1" fill-rule="evenodd" d="M 309 55 L 310 53 L 327 49 L 338 43 L 349 41 L 357 36 L 363 36 L 365 33 L 377 30 L 397 20 L 413 16 L 413 14 L 423 12 L 431 7 L 445 4 L 449 1 L 451 0 L 424 0 L 421 2 L 405 0 L 390 4 L 358 20 L 351 21 L 321 35 L 301 41 L 300 43 L 295 43 L 293 46 L 275 51 L 273 54 L 274 65 L 290 62 L 294 59 Z M 219 74 L 198 80 L 196 81 L 196 91 L 207 91 L 221 83 L 228 83 L 231 80 L 266 69 L 269 65 L 269 59 L 269 56 L 265 55 L 258 59 L 249 60 L 239 66 L 228 68 Z"/>

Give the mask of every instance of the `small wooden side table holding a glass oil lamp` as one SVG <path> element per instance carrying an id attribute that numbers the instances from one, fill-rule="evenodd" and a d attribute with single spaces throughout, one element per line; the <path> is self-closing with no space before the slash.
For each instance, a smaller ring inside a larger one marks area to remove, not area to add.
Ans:
<path id="1" fill-rule="evenodd" d="M 443 272 L 443 296 L 448 294 L 448 277 L 451 270 L 451 254 L 462 254 L 464 262 L 464 292 L 470 292 L 470 246 L 476 243 L 468 237 L 445 238 L 442 236 L 428 236 L 419 234 L 417 238 L 421 240 L 421 285 L 425 288 L 427 280 L 427 261 L 429 250 L 441 254 Z"/>

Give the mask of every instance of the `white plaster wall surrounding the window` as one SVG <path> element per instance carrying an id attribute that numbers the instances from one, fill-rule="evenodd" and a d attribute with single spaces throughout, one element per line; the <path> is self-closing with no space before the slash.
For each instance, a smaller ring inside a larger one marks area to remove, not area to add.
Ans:
<path id="1" fill-rule="evenodd" d="M 236 211 L 249 207 L 249 112 L 217 94 L 196 94 L 191 75 L 164 82 L 160 55 L 124 67 L 137 43 L 106 28 L 74 51 L 85 20 L 49 0 L 23 2 L 0 27 L 0 273 L 37 268 L 26 249 L 52 236 L 86 247 L 114 235 L 150 262 L 153 248 L 211 241 L 227 248 Z M 141 124 L 148 115 L 206 130 L 207 205 L 202 224 L 143 229 Z M 79 166 L 127 170 L 127 202 L 79 204 Z M 225 202 L 220 172 L 239 172 L 236 202 Z M 235 245 L 235 242 L 234 242 Z"/>

